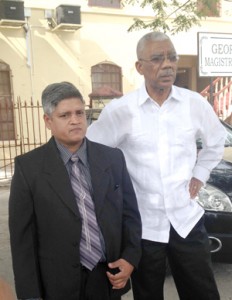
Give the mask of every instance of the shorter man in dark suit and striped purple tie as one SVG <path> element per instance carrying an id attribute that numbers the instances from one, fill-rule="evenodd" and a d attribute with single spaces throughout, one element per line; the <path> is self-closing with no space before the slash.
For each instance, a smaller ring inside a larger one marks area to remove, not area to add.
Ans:
<path id="1" fill-rule="evenodd" d="M 141 220 L 124 156 L 119 149 L 85 137 L 84 101 L 71 83 L 48 85 L 42 103 L 53 137 L 16 157 L 11 184 L 9 228 L 17 297 L 120 297 L 128 291 L 128 280 L 141 255 Z M 73 157 L 78 158 L 86 183 L 84 187 L 77 181 L 85 189 L 83 195 L 72 183 L 76 180 Z M 87 208 L 80 206 L 82 196 L 86 205 L 87 194 L 97 223 L 93 239 L 99 240 L 100 256 L 94 267 L 82 263 L 88 251 L 95 257 L 90 217 Z"/>

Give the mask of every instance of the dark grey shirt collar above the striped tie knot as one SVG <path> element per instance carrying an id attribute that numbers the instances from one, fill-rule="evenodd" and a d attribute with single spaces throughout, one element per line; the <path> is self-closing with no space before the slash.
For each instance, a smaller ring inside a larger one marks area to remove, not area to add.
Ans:
<path id="1" fill-rule="evenodd" d="M 70 158 L 73 156 L 73 155 L 77 155 L 78 158 L 82 161 L 82 163 L 85 165 L 85 166 L 88 166 L 88 160 L 87 160 L 87 143 L 86 143 L 86 139 L 83 140 L 83 143 L 82 145 L 80 146 L 80 148 L 75 152 L 75 153 L 72 153 L 70 152 L 64 145 L 62 145 L 56 138 L 55 138 L 55 141 L 56 141 L 56 145 L 57 145 L 57 148 L 60 152 L 60 156 L 64 162 L 64 164 L 66 165 Z"/>

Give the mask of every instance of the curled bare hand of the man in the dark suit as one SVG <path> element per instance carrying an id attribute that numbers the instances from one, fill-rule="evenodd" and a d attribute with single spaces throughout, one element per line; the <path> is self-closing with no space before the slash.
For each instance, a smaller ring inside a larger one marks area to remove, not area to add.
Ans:
<path id="1" fill-rule="evenodd" d="M 118 269 L 118 273 L 116 274 L 112 274 L 110 271 L 106 272 L 113 289 L 122 289 L 126 285 L 132 271 L 134 270 L 134 267 L 122 258 L 109 263 L 108 267 L 110 269 Z"/>

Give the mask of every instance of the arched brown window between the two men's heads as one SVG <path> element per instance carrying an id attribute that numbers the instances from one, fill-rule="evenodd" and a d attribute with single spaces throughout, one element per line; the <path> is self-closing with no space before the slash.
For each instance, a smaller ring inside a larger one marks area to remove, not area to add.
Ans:
<path id="1" fill-rule="evenodd" d="M 122 70 L 115 64 L 103 62 L 91 68 L 92 90 L 109 86 L 122 92 Z"/>

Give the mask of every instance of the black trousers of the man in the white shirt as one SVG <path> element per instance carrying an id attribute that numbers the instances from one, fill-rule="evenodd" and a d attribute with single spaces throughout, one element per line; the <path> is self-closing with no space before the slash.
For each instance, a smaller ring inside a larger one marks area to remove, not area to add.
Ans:
<path id="1" fill-rule="evenodd" d="M 171 227 L 168 244 L 142 240 L 142 258 L 132 274 L 134 300 L 163 300 L 168 262 L 181 300 L 220 299 L 204 218 L 183 239 Z"/>

